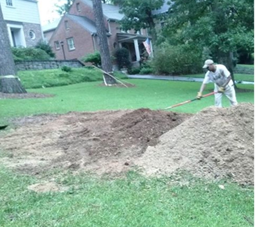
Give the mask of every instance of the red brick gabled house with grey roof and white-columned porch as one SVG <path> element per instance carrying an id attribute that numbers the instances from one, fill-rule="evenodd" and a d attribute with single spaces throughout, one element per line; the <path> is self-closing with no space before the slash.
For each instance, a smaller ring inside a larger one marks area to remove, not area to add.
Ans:
<path id="1" fill-rule="evenodd" d="M 102 10 L 110 54 L 113 55 L 119 47 L 126 47 L 130 60 L 134 63 L 139 62 L 140 55 L 145 51 L 143 41 L 148 37 L 147 31 L 142 29 L 136 34 L 134 31 L 124 32 L 118 24 L 123 17 L 119 13 L 119 7 L 102 4 Z M 98 51 L 92 1 L 75 0 L 68 13 L 61 18 L 49 44 L 57 59 L 79 59 L 88 53 Z"/>

